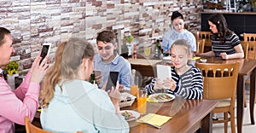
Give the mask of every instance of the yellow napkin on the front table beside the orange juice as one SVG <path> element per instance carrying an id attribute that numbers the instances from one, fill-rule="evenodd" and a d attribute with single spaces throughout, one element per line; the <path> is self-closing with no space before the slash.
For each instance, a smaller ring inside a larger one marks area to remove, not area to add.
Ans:
<path id="1" fill-rule="evenodd" d="M 154 113 L 148 113 L 147 115 L 143 116 L 143 118 L 138 119 L 137 122 L 161 126 L 165 124 L 169 119 L 172 119 L 172 117 L 167 117 L 167 116 L 154 114 Z"/>

